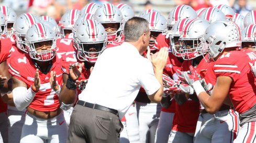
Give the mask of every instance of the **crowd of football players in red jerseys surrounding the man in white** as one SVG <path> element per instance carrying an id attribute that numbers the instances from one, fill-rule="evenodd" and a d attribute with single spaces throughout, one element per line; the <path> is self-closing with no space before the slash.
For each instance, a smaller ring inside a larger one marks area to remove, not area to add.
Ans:
<path id="1" fill-rule="evenodd" d="M 132 8 L 89 3 L 59 23 L 0 11 L 0 142 L 66 142 L 79 94 L 97 58 L 125 41 Z M 151 102 L 141 87 L 119 116 L 120 142 L 256 142 L 256 10 L 178 5 L 168 19 L 155 9 L 139 17 L 150 29 L 141 56 L 169 49 L 164 95 Z"/>

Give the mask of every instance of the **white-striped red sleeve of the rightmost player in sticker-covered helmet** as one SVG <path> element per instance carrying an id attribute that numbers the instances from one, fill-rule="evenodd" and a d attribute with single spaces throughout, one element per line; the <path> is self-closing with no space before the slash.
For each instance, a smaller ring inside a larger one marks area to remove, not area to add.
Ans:
<path id="1" fill-rule="evenodd" d="M 243 69 L 242 64 L 239 61 L 235 53 L 227 53 L 222 55 L 214 64 L 214 73 L 216 79 L 218 76 L 229 76 L 233 81 L 237 81 L 240 76 L 241 70 Z"/>

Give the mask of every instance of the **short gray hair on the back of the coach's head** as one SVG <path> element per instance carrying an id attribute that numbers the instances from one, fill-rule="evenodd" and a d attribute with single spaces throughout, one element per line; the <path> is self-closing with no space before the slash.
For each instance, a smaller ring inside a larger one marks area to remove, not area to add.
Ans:
<path id="1" fill-rule="evenodd" d="M 141 17 L 133 17 L 125 24 L 125 42 L 136 42 L 139 37 L 149 31 L 148 21 Z"/>

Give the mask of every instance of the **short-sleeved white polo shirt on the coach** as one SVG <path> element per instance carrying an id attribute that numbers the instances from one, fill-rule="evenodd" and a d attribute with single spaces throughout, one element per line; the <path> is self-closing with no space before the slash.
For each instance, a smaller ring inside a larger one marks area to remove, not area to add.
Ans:
<path id="1" fill-rule="evenodd" d="M 124 42 L 107 48 L 98 57 L 79 100 L 116 109 L 122 118 L 140 87 L 152 95 L 160 88 L 152 63 L 139 54 L 138 49 Z"/>

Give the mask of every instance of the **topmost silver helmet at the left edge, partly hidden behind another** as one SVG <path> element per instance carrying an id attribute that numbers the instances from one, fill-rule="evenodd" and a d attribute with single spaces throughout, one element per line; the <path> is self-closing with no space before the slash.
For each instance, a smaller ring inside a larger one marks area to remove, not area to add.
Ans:
<path id="1" fill-rule="evenodd" d="M 0 6 L 0 10 L 5 16 L 5 23 L 6 23 L 6 27 L 3 33 L 6 34 L 7 37 L 10 37 L 13 32 L 12 28 L 13 28 L 14 22 L 17 19 L 17 15 L 12 8 L 8 8 L 7 6 Z"/>

